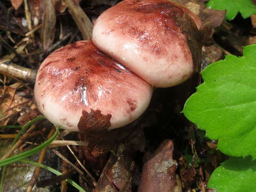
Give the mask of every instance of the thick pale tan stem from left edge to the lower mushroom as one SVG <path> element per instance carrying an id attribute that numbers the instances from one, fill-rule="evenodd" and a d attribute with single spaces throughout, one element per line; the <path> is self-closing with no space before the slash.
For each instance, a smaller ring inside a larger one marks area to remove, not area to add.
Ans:
<path id="1" fill-rule="evenodd" d="M 35 69 L 21 67 L 14 63 L 8 64 L 7 62 L 0 60 L 0 74 L 17 77 L 26 82 L 34 83 L 36 79 L 36 73 L 37 71 Z"/>

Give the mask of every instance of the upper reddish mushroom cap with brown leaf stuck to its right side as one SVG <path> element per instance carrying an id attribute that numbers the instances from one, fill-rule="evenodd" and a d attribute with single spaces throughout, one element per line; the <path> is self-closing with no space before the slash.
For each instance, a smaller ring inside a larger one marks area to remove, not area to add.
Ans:
<path id="1" fill-rule="evenodd" d="M 169 87 L 193 74 L 202 27 L 194 13 L 173 2 L 125 0 L 95 21 L 92 41 L 149 84 Z"/>

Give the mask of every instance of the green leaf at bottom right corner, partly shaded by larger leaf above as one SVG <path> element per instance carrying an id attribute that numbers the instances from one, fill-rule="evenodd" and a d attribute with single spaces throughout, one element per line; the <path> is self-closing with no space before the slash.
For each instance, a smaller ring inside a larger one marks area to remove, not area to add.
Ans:
<path id="1" fill-rule="evenodd" d="M 256 188 L 256 161 L 251 157 L 230 157 L 215 169 L 208 187 L 218 192 L 251 192 Z"/>

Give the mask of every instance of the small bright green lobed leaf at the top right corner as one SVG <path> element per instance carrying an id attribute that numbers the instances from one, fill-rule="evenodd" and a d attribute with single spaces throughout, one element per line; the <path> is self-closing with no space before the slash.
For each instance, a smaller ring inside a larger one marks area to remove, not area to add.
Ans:
<path id="1" fill-rule="evenodd" d="M 226 17 L 232 20 L 240 12 L 245 19 L 256 13 L 256 6 L 251 0 L 210 0 L 207 6 L 217 10 L 227 10 Z"/>

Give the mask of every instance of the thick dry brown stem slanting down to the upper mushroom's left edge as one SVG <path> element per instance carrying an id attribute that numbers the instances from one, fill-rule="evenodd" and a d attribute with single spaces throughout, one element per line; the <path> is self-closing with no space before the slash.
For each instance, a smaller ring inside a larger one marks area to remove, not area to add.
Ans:
<path id="1" fill-rule="evenodd" d="M 65 0 L 65 3 L 84 40 L 90 39 L 92 37 L 92 22 L 90 19 L 87 17 L 82 8 L 73 0 Z"/>

